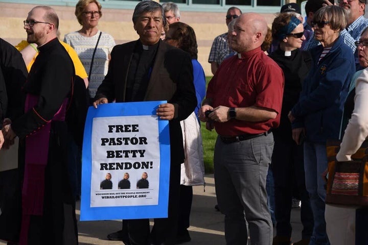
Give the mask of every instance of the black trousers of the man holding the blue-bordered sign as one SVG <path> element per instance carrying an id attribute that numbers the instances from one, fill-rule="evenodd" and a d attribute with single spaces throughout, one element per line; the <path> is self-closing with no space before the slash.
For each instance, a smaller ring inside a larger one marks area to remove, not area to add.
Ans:
<path id="1" fill-rule="evenodd" d="M 173 245 L 177 233 L 179 197 L 180 197 L 180 163 L 170 166 L 169 209 L 167 218 L 155 218 L 150 232 L 149 219 L 129 219 L 129 240 L 131 245 L 165 244 Z"/>

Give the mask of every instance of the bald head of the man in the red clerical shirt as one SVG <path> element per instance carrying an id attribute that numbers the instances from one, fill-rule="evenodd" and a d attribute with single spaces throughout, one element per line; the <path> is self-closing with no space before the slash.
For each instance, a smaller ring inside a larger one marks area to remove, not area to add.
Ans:
<path id="1" fill-rule="evenodd" d="M 266 35 L 266 19 L 256 13 L 245 13 L 235 23 L 231 46 L 238 53 L 248 52 L 260 47 Z"/>

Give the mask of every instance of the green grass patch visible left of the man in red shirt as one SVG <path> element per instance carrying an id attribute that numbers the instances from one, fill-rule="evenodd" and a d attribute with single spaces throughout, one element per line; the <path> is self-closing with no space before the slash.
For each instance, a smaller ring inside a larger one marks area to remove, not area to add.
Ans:
<path id="1" fill-rule="evenodd" d="M 206 77 L 206 87 L 212 77 Z M 205 123 L 201 122 L 201 133 L 203 141 L 203 159 L 204 159 L 204 170 L 206 174 L 213 173 L 213 153 L 215 149 L 215 141 L 217 133 L 215 130 L 208 131 L 205 129 Z"/>

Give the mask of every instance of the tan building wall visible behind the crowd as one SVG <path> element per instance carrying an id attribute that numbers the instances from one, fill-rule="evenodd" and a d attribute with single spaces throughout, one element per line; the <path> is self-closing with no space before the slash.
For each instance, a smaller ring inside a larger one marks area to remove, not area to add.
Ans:
<path id="1" fill-rule="evenodd" d="M 26 31 L 23 28 L 23 20 L 27 18 L 28 12 L 35 5 L 13 4 L 0 2 L 0 37 L 13 45 L 26 39 Z M 77 31 L 81 28 L 74 11 L 74 6 L 52 6 L 57 12 L 60 24 L 60 39 L 69 32 Z M 99 22 L 99 29 L 102 32 L 111 34 L 116 43 L 125 43 L 135 40 L 138 35 L 133 29 L 131 20 L 133 9 L 110 9 L 102 8 L 103 16 Z M 206 76 L 212 76 L 211 65 L 208 63 L 208 56 L 213 39 L 226 32 L 225 23 L 226 10 L 221 12 L 191 12 L 180 11 L 180 21 L 189 24 L 195 31 L 198 42 L 198 61 L 204 68 Z M 274 14 L 263 13 L 268 24 L 272 23 Z"/>

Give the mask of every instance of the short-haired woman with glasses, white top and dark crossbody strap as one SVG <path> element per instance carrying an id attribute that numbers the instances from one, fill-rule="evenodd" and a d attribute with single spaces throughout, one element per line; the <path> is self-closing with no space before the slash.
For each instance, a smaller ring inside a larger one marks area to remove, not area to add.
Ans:
<path id="1" fill-rule="evenodd" d="M 80 0 L 76 5 L 75 15 L 82 28 L 64 37 L 64 42 L 77 52 L 88 74 L 91 99 L 95 97 L 97 88 L 107 74 L 110 53 L 115 46 L 113 37 L 102 33 L 97 27 L 102 17 L 101 8 L 97 0 Z"/>

